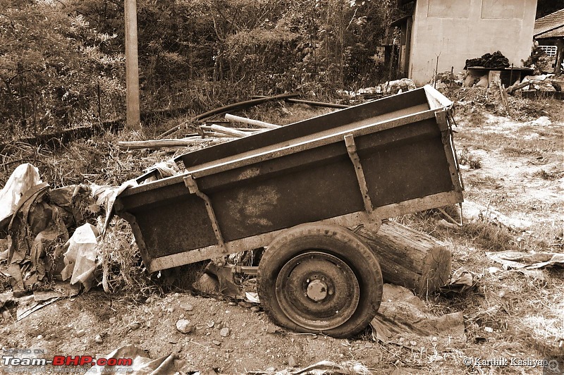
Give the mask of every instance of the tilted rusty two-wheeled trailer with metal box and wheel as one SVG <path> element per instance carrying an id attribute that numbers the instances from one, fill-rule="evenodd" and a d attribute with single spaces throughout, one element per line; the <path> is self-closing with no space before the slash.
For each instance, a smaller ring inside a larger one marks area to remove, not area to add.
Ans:
<path id="1" fill-rule="evenodd" d="M 149 271 L 265 247 L 264 309 L 347 337 L 381 302 L 379 264 L 350 228 L 462 202 L 450 102 L 430 86 L 184 154 L 184 173 L 116 200 Z"/>

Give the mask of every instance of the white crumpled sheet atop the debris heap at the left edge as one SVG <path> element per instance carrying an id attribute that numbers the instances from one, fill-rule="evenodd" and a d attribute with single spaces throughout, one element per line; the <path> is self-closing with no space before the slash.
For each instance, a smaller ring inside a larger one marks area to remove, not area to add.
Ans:
<path id="1" fill-rule="evenodd" d="M 29 163 L 18 166 L 0 191 L 0 222 L 16 211 L 20 198 L 27 190 L 42 182 L 35 166 Z"/>

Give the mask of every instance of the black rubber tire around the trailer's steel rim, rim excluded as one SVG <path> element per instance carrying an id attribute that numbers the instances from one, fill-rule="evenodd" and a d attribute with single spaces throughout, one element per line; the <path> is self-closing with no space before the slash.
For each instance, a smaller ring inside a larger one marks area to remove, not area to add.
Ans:
<path id="1" fill-rule="evenodd" d="M 360 300 L 353 316 L 335 328 L 316 331 L 288 319 L 276 300 L 276 277 L 284 264 L 308 250 L 324 250 L 353 269 L 360 287 Z M 278 326 L 302 333 L 321 333 L 336 338 L 355 336 L 372 321 L 382 299 L 382 273 L 378 259 L 357 235 L 331 224 L 307 223 L 285 230 L 266 248 L 259 263 L 257 291 L 262 307 Z"/>

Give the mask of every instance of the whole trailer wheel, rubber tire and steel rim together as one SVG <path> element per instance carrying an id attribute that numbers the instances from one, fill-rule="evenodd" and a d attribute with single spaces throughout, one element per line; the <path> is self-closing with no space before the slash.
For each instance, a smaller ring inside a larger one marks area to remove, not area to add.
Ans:
<path id="1" fill-rule="evenodd" d="M 353 232 L 307 223 L 286 230 L 259 264 L 258 293 L 274 323 L 343 338 L 360 333 L 382 297 L 378 259 Z"/>

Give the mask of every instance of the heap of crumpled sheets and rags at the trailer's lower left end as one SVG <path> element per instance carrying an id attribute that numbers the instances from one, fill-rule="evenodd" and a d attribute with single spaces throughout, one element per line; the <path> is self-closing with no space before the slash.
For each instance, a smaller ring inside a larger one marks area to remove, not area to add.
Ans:
<path id="1" fill-rule="evenodd" d="M 154 170 L 171 173 L 167 164 Z M 18 166 L 8 181 L 1 192 L 6 203 L 1 229 L 9 237 L 1 242 L 1 260 L 6 263 L 0 273 L 11 282 L 13 292 L 23 295 L 68 279 L 71 285 L 90 290 L 99 266 L 99 235 L 109 223 L 116 196 L 135 181 L 120 187 L 83 183 L 51 190 L 31 164 Z M 99 228 L 92 225 L 98 223 Z"/>

